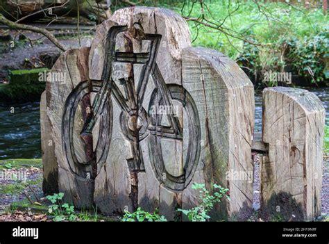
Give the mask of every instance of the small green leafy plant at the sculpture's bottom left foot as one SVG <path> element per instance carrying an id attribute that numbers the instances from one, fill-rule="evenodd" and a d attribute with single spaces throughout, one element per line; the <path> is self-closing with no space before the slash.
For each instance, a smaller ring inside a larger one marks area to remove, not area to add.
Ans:
<path id="1" fill-rule="evenodd" d="M 77 216 L 74 213 L 74 206 L 67 203 L 62 203 L 64 193 L 56 193 L 54 195 L 48 195 L 47 200 L 51 202 L 49 205 L 48 213 L 53 215 L 53 221 L 74 221 L 77 220 Z"/>

